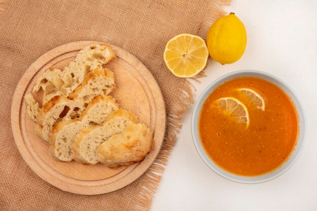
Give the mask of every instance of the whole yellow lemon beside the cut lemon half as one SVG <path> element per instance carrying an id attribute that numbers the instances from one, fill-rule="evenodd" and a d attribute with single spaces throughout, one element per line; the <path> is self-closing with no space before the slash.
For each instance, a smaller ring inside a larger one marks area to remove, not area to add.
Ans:
<path id="1" fill-rule="evenodd" d="M 210 57 L 221 64 L 231 64 L 239 60 L 246 46 L 246 28 L 234 13 L 217 19 L 208 31 L 207 47 Z"/>

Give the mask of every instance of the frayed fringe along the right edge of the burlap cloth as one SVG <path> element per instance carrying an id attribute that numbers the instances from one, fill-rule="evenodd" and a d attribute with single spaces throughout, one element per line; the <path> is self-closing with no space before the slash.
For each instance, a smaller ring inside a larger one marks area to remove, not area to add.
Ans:
<path id="1" fill-rule="evenodd" d="M 231 3 L 231 0 L 218 0 L 219 4 L 211 5 L 210 11 L 208 13 L 200 27 L 200 30 L 197 32 L 198 35 L 206 39 L 209 27 L 211 24 L 218 19 L 220 16 L 226 15 L 222 10 L 222 6 L 228 6 Z M 202 71 L 194 78 L 190 80 L 197 80 L 197 78 L 204 77 L 205 74 Z M 169 114 L 167 116 L 167 130 L 164 138 L 164 143 L 159 155 L 154 160 L 153 164 L 149 167 L 147 172 L 144 174 L 145 185 L 141 188 L 139 193 L 138 200 L 135 204 L 135 209 L 137 210 L 149 210 L 152 198 L 154 193 L 157 190 L 157 187 L 160 184 L 164 167 L 167 164 L 168 157 L 171 153 L 171 149 L 176 142 L 176 136 L 182 126 L 182 117 L 188 107 L 193 103 L 193 94 L 192 91 L 195 91 L 194 86 L 188 79 L 184 79 L 183 88 L 179 90 L 179 99 L 171 107 Z"/>

